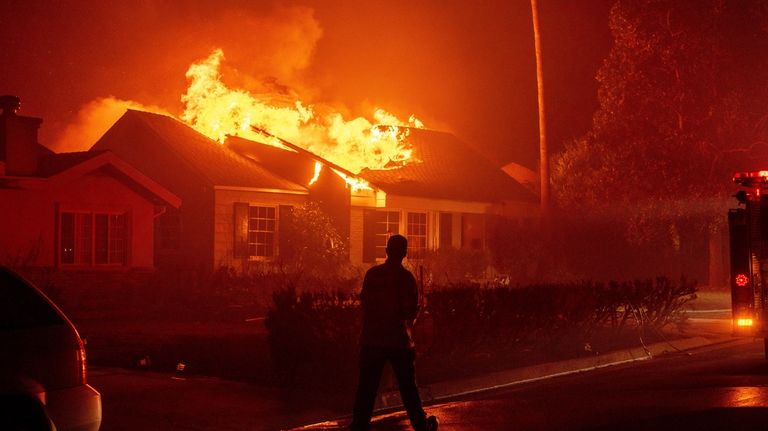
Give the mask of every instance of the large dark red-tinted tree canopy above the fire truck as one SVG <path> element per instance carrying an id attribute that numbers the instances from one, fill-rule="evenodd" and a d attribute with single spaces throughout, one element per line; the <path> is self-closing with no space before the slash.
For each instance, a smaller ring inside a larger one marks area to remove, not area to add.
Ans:
<path id="1" fill-rule="evenodd" d="M 717 198 L 768 169 L 766 3 L 617 1 L 592 128 L 553 164 L 560 205 Z"/>

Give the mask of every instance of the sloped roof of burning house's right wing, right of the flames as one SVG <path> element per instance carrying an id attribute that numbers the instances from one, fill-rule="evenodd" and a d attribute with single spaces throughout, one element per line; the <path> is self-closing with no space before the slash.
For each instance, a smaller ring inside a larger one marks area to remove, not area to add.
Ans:
<path id="1" fill-rule="evenodd" d="M 536 202 L 536 196 L 454 135 L 410 129 L 417 160 L 359 176 L 387 193 L 474 202 Z"/>

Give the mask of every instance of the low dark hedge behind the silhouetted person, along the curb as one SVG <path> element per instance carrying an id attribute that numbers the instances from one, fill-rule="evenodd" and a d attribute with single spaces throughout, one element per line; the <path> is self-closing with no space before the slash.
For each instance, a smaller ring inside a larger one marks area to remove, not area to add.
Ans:
<path id="1" fill-rule="evenodd" d="M 466 363 L 477 352 L 509 352 L 563 340 L 658 331 L 684 320 L 696 285 L 667 278 L 508 287 L 436 286 L 424 295 L 416 342 L 421 355 Z M 275 370 L 286 385 L 351 386 L 360 307 L 356 294 L 275 292 L 266 320 Z"/>

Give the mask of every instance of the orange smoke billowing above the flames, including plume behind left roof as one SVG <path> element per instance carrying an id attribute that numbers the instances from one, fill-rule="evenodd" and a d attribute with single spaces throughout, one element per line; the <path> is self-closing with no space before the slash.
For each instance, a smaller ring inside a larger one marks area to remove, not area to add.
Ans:
<path id="1" fill-rule="evenodd" d="M 313 9 L 201 7 L 179 16 L 163 2 L 149 3 L 152 7 L 132 12 L 142 29 L 140 42 L 115 42 L 112 48 L 124 48 L 123 57 L 112 75 L 99 79 L 100 88 L 94 88 L 102 95 L 76 108 L 75 117 L 53 137 L 54 151 L 87 150 L 129 108 L 181 115 L 184 71 L 212 48 L 227 52 L 221 74 L 234 87 L 276 101 L 313 93 L 301 77 L 323 33 Z M 103 73 L 108 72 L 97 68 L 92 76 Z"/>

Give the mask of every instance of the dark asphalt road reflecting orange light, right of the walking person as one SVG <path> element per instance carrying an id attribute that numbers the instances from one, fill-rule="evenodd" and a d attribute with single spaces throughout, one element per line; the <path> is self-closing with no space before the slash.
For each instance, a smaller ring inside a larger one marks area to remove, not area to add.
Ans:
<path id="1" fill-rule="evenodd" d="M 768 430 L 768 361 L 761 339 L 741 339 L 427 410 L 444 431 Z M 377 418 L 372 429 L 410 427 L 395 413 Z"/>

